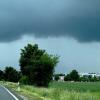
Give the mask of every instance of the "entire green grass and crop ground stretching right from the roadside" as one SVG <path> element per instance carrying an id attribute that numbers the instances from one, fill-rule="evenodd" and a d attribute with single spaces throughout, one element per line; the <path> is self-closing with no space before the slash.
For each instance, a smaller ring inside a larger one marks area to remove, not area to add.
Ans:
<path id="1" fill-rule="evenodd" d="M 17 91 L 17 84 L 7 83 Z M 100 82 L 52 82 L 48 88 L 21 85 L 28 100 L 100 100 Z"/>

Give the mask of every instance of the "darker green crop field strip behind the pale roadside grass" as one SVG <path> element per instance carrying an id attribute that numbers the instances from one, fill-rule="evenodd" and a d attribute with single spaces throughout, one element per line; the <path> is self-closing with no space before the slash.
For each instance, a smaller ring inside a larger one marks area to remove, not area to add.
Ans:
<path id="1" fill-rule="evenodd" d="M 100 82 L 52 82 L 50 83 L 50 88 L 77 92 L 100 92 Z"/>

